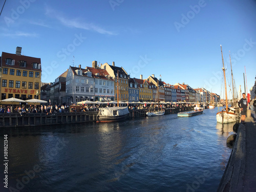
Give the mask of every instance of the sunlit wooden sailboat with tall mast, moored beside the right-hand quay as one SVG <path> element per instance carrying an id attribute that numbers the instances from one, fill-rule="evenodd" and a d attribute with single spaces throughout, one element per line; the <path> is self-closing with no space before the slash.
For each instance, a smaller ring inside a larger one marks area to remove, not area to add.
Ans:
<path id="1" fill-rule="evenodd" d="M 224 83 L 225 83 L 226 109 L 222 110 L 221 112 L 218 112 L 216 114 L 216 119 L 217 119 L 217 122 L 219 123 L 231 123 L 231 122 L 236 122 L 239 119 L 239 113 L 237 113 L 236 110 L 232 110 L 231 108 L 228 108 L 227 84 L 226 84 L 226 74 L 225 74 L 225 66 L 223 61 L 222 47 L 221 47 L 221 56 L 222 56 L 222 63 L 223 63 L 222 70 L 224 73 Z"/>

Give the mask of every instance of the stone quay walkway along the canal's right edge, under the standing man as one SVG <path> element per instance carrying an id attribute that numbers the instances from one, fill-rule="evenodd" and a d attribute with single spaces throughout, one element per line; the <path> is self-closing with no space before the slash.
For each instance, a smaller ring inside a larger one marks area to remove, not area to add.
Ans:
<path id="1" fill-rule="evenodd" d="M 256 191 L 256 123 L 255 112 L 240 125 L 218 192 Z"/>

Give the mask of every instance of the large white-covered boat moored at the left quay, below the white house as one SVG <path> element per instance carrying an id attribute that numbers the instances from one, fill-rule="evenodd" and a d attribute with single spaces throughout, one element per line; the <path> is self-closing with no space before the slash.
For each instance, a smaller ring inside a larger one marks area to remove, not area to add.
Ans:
<path id="1" fill-rule="evenodd" d="M 111 108 L 99 108 L 97 122 L 110 122 L 125 120 L 129 115 L 127 106 L 113 106 Z"/>

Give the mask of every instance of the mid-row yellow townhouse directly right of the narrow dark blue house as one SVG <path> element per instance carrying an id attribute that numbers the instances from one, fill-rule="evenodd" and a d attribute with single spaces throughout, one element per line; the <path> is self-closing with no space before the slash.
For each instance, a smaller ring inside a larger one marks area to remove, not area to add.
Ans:
<path id="1" fill-rule="evenodd" d="M 149 81 L 143 80 L 142 75 L 140 79 L 134 78 L 139 88 L 139 100 L 140 101 L 153 101 L 152 85 Z"/>

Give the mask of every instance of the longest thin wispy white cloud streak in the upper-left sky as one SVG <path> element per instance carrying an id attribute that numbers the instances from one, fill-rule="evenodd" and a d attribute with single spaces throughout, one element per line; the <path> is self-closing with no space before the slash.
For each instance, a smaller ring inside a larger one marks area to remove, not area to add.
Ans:
<path id="1" fill-rule="evenodd" d="M 97 33 L 100 33 L 100 34 L 107 34 L 107 35 L 117 35 L 117 33 L 114 33 L 112 31 L 108 31 L 108 30 L 105 30 L 95 24 L 92 24 L 92 23 L 85 23 L 85 22 L 82 22 L 81 20 L 79 19 L 69 19 L 69 18 L 66 18 L 66 17 L 63 17 L 61 14 L 58 14 L 55 10 L 47 7 L 46 8 L 46 15 L 50 16 L 50 17 L 53 17 L 53 18 L 56 18 L 57 20 L 59 20 L 59 22 L 63 25 L 63 26 L 66 26 L 66 27 L 69 27 L 69 28 L 78 28 L 78 29 L 84 29 L 84 30 L 89 30 L 89 31 L 95 31 Z"/>

